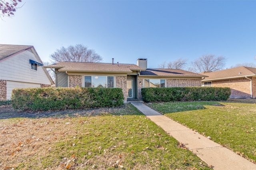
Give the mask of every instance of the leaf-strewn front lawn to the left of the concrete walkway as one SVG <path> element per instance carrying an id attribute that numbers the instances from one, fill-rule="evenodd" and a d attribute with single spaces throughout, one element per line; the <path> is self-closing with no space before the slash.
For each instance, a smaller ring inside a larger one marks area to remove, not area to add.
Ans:
<path id="1" fill-rule="evenodd" d="M 66 115 L 0 119 L 0 169 L 211 169 L 131 104 Z"/>

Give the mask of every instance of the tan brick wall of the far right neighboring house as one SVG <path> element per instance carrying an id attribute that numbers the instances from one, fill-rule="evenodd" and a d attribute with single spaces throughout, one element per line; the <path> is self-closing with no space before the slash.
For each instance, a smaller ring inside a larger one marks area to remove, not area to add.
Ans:
<path id="1" fill-rule="evenodd" d="M 255 78 L 254 81 L 256 81 Z M 236 78 L 212 82 L 212 87 L 229 87 L 231 89 L 230 98 L 250 98 L 250 86 L 250 80 L 246 78 Z"/>

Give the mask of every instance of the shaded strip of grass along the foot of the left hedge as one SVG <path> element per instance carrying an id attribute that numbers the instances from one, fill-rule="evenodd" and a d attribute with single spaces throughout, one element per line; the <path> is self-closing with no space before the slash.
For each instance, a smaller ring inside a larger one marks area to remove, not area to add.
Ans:
<path id="1" fill-rule="evenodd" d="M 67 118 L 80 116 L 101 116 L 101 115 L 143 115 L 132 104 L 124 104 L 120 107 L 104 107 L 83 110 L 60 110 L 60 111 L 34 111 L 20 112 L 15 111 L 12 106 L 0 106 L 0 119 L 9 118 Z"/>

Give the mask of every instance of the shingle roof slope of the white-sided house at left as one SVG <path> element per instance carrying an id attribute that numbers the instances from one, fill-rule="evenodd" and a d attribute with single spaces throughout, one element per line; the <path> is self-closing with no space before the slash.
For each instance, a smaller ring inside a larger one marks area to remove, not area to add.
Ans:
<path id="1" fill-rule="evenodd" d="M 5 59 L 15 53 L 24 51 L 33 47 L 32 45 L 7 45 L 0 44 L 0 60 Z"/>

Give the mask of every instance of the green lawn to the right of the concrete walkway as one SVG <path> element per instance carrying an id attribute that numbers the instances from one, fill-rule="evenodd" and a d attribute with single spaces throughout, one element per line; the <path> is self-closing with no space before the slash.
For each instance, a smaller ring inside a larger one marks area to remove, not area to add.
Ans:
<path id="1" fill-rule="evenodd" d="M 256 162 L 256 100 L 169 102 L 148 106 Z"/>

